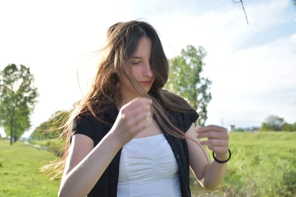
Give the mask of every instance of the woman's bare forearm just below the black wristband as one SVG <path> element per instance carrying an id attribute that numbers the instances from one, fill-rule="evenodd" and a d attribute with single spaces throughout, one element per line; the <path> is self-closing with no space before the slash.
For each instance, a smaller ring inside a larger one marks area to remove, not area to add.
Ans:
<path id="1" fill-rule="evenodd" d="M 216 158 L 220 161 L 227 159 L 228 154 Z M 215 190 L 223 181 L 227 169 L 227 163 L 220 164 L 216 161 L 208 164 L 203 172 L 202 183 L 207 190 Z"/>

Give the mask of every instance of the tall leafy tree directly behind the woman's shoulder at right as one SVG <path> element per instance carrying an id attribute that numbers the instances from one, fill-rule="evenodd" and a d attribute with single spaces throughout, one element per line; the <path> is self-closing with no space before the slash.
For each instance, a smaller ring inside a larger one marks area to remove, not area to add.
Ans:
<path id="1" fill-rule="evenodd" d="M 170 60 L 170 76 L 165 86 L 187 99 L 194 109 L 199 110 L 200 126 L 204 126 L 208 118 L 207 106 L 212 99 L 209 92 L 212 82 L 200 76 L 205 66 L 206 55 L 203 47 L 200 46 L 197 50 L 194 46 L 187 45 L 186 49 L 182 49 L 180 56 Z"/>

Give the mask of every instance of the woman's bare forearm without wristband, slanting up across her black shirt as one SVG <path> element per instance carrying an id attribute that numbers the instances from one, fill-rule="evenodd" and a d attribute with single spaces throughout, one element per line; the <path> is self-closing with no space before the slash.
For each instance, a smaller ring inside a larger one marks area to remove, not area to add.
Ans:
<path id="1" fill-rule="evenodd" d="M 63 179 L 59 197 L 86 197 L 120 149 L 110 134 Z"/>

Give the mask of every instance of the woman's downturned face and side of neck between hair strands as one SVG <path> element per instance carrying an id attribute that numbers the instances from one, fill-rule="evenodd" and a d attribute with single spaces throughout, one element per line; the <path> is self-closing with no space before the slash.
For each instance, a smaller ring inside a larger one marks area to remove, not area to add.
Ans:
<path id="1" fill-rule="evenodd" d="M 131 72 L 129 69 L 125 69 L 128 75 L 132 74 L 134 76 L 136 82 L 143 87 L 146 93 L 155 81 L 153 70 L 150 67 L 151 48 L 151 40 L 148 37 L 143 37 L 139 42 L 138 49 L 128 61 L 131 66 Z M 125 75 L 122 76 L 120 81 L 121 93 L 128 94 L 129 97 L 138 95 L 129 79 Z M 140 89 L 139 91 L 142 92 L 143 90 Z"/>

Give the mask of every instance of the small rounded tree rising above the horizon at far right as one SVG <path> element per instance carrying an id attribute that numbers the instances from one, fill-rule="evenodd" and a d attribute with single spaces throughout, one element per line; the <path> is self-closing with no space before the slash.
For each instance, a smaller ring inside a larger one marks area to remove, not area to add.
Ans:
<path id="1" fill-rule="evenodd" d="M 265 121 L 262 123 L 259 130 L 260 131 L 281 131 L 284 123 L 285 123 L 284 118 L 270 115 L 266 117 Z"/>

